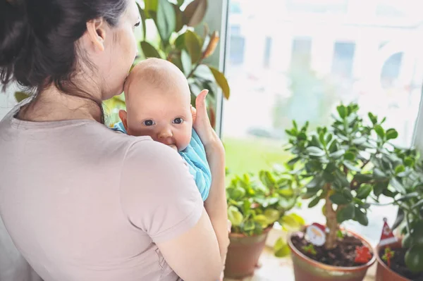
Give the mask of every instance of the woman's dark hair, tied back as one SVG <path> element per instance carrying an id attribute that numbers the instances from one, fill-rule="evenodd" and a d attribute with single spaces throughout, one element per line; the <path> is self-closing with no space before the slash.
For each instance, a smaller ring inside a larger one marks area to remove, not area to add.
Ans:
<path id="1" fill-rule="evenodd" d="M 101 101 L 73 82 L 75 42 L 89 20 L 104 18 L 115 26 L 127 1 L 0 0 L 0 82 L 6 86 L 17 81 L 35 92 L 54 84 L 64 94 L 90 99 L 102 108 Z M 104 122 L 103 113 L 101 119 Z"/>

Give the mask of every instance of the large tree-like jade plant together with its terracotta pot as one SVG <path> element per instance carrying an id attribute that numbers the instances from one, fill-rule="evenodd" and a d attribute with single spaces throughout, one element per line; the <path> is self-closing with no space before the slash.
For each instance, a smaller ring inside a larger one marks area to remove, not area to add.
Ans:
<path id="1" fill-rule="evenodd" d="M 357 104 L 336 109 L 333 123 L 317 132 L 309 133 L 308 123 L 298 127 L 295 121 L 286 130 L 294 156 L 288 163 L 298 166 L 298 175 L 307 180 L 302 197 L 311 199 L 309 208 L 322 201 L 326 217 L 326 225 L 309 227 L 313 232 L 288 236 L 297 281 L 363 280 L 375 261 L 369 242 L 340 225 L 346 220 L 368 225 L 368 197 L 381 185 L 372 161 L 389 154 L 386 146 L 398 132 L 384 131 L 384 119 L 379 122 L 372 113 L 371 122 L 364 123 Z M 384 138 L 376 137 L 382 132 Z"/>

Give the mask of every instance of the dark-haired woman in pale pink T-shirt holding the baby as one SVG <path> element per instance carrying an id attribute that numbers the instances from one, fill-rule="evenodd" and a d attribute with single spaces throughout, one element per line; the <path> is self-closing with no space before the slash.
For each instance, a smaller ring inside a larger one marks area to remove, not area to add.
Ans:
<path id="1" fill-rule="evenodd" d="M 0 123 L 0 215 L 45 281 L 217 280 L 228 245 L 223 146 L 205 93 L 202 204 L 173 149 L 104 126 L 137 54 L 135 0 L 0 0 L 0 77 L 36 95 Z"/>

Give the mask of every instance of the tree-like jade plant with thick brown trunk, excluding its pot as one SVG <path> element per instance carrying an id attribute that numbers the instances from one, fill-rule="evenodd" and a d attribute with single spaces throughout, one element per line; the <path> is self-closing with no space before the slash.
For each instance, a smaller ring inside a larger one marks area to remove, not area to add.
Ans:
<path id="1" fill-rule="evenodd" d="M 379 180 L 379 170 L 373 161 L 391 156 L 391 139 L 398 137 L 394 129 L 384 130 L 385 118 L 368 113 L 366 122 L 360 117 L 357 104 L 341 104 L 327 127 L 308 131 L 308 123 L 286 130 L 288 150 L 293 158 L 288 162 L 297 167 L 298 175 L 307 180 L 302 198 L 310 199 L 309 208 L 323 201 L 326 217 L 326 249 L 334 249 L 339 238 L 340 224 L 355 220 L 368 225 L 367 210 L 372 191 L 385 189 L 389 182 Z M 342 236 L 341 236 L 342 237 Z"/>

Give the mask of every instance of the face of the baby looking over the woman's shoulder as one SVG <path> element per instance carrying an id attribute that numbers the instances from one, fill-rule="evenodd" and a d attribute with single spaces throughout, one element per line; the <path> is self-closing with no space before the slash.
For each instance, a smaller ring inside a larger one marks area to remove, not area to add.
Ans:
<path id="1" fill-rule="evenodd" d="M 178 151 L 185 149 L 192 135 L 189 88 L 181 85 L 164 90 L 140 80 L 130 83 L 128 135 L 148 135 Z"/>

